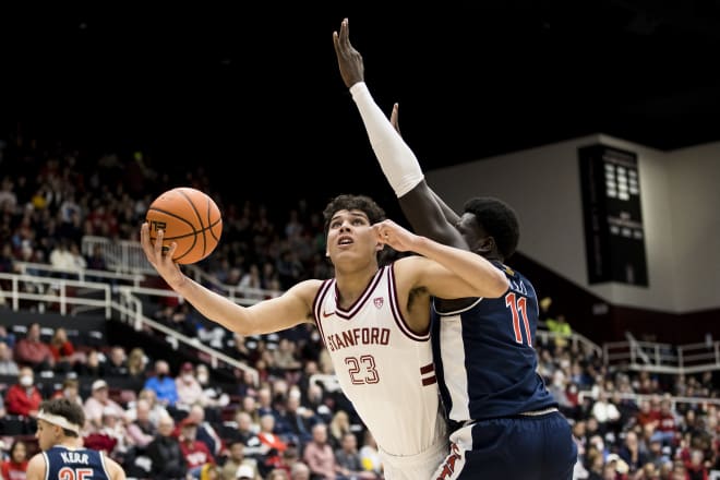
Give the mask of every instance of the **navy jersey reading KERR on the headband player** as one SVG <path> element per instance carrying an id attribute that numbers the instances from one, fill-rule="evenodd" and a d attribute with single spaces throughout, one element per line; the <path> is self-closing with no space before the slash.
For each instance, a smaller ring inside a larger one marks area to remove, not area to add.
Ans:
<path id="1" fill-rule="evenodd" d="M 45 480 L 109 480 L 105 457 L 89 448 L 53 446 L 45 452 Z"/>

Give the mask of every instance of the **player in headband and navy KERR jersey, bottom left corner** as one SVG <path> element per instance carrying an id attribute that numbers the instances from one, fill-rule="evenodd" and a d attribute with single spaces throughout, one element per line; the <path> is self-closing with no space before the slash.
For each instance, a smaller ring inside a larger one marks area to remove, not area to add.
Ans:
<path id="1" fill-rule="evenodd" d="M 117 461 L 81 446 L 84 423 L 80 405 L 67 398 L 43 401 L 35 434 L 41 452 L 27 464 L 27 480 L 124 480 Z"/>

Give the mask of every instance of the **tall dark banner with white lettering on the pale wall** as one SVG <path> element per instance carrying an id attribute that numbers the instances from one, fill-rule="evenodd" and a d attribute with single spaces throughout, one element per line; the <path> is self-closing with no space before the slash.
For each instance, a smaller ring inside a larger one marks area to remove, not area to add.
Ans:
<path id="1" fill-rule="evenodd" d="M 578 148 L 590 285 L 648 286 L 637 155 L 605 145 Z"/>

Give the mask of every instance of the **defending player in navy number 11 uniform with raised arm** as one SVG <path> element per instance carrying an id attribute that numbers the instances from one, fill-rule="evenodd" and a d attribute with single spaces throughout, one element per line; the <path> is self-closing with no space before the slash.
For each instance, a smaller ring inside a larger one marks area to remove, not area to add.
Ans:
<path id="1" fill-rule="evenodd" d="M 433 478 L 571 479 L 577 451 L 569 424 L 536 372 L 535 289 L 503 263 L 519 239 L 515 212 L 493 197 L 467 201 L 461 216 L 449 208 L 399 135 L 397 106 L 388 121 L 370 95 L 347 19 L 333 37 L 340 75 L 412 228 L 484 256 L 511 285 L 496 299 L 433 299 L 434 362 L 452 431 L 451 455 Z"/>

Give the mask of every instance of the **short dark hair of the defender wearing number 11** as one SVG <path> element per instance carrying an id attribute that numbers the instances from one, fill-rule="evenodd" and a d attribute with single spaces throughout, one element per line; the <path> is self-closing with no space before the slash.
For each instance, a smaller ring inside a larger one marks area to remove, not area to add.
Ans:
<path id="1" fill-rule="evenodd" d="M 520 240 L 520 225 L 513 207 L 500 199 L 478 196 L 465 202 L 463 209 L 475 215 L 485 233 L 495 239 L 497 252 L 504 259 L 513 256 Z"/>

